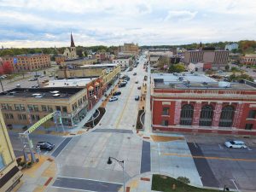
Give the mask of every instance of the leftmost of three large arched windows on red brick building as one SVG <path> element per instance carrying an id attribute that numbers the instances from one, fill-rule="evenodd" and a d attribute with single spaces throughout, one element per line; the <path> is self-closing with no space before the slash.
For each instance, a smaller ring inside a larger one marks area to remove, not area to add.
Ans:
<path id="1" fill-rule="evenodd" d="M 183 105 L 180 113 L 180 125 L 192 125 L 194 107 L 192 105 Z"/>

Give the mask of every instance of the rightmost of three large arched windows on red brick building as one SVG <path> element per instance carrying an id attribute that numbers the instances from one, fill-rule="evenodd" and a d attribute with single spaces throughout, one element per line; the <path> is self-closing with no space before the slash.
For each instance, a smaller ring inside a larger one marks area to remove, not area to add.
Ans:
<path id="1" fill-rule="evenodd" d="M 235 113 L 235 109 L 230 105 L 222 108 L 218 126 L 225 126 L 225 127 L 232 126 L 234 113 Z"/>

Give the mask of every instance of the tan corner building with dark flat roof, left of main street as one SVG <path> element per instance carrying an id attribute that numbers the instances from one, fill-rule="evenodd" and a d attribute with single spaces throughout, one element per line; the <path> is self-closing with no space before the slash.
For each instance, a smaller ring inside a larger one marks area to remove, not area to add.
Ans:
<path id="1" fill-rule="evenodd" d="M 73 127 L 87 113 L 87 90 L 15 88 L 0 93 L 0 105 L 7 125 L 31 125 L 49 113 L 61 111 L 63 125 Z M 54 125 L 53 121 L 51 125 Z"/>

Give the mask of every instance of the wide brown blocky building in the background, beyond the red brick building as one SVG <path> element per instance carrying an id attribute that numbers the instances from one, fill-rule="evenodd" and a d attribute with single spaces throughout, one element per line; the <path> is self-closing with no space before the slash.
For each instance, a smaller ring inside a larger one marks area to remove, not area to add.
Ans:
<path id="1" fill-rule="evenodd" d="M 212 63 L 213 69 L 224 68 L 229 61 L 228 50 L 187 50 L 184 53 L 184 63 Z"/>

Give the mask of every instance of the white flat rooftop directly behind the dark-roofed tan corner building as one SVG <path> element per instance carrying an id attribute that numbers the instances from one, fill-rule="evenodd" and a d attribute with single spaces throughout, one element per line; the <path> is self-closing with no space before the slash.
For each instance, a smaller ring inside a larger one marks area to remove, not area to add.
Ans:
<path id="1" fill-rule="evenodd" d="M 45 87 L 85 87 L 96 78 L 51 80 Z"/>

